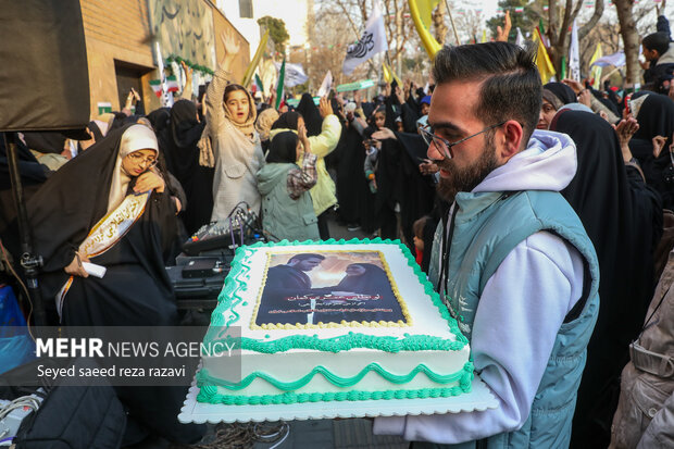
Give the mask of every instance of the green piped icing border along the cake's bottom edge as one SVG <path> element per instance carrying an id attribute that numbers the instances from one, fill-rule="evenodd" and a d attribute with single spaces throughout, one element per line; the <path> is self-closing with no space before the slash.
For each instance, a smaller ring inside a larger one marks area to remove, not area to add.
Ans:
<path id="1" fill-rule="evenodd" d="M 203 371 L 203 370 L 202 370 Z M 417 399 L 417 398 L 445 398 L 459 396 L 471 391 L 473 381 L 473 363 L 466 362 L 459 373 L 459 385 L 453 387 L 417 388 L 417 389 L 386 389 L 377 391 L 337 391 L 337 392 L 294 392 L 286 391 L 280 395 L 236 396 L 221 395 L 217 386 L 203 385 L 200 387 L 197 400 L 207 403 L 223 403 L 226 406 L 269 406 L 282 403 L 302 403 L 321 401 L 363 401 L 380 399 Z M 201 379 L 201 372 L 197 375 Z"/>

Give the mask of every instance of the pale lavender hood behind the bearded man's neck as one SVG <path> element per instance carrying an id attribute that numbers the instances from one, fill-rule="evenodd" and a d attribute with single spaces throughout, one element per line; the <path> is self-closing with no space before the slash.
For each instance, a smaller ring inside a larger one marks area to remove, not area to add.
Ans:
<path id="1" fill-rule="evenodd" d="M 473 192 L 561 191 L 578 166 L 576 145 L 565 134 L 536 129 L 525 150 L 513 155 L 473 189 Z"/>

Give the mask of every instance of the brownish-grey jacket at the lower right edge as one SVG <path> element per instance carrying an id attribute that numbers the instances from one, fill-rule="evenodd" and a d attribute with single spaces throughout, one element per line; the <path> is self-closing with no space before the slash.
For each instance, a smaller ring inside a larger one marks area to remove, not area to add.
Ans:
<path id="1" fill-rule="evenodd" d="M 611 448 L 674 448 L 674 250 L 631 346 Z"/>

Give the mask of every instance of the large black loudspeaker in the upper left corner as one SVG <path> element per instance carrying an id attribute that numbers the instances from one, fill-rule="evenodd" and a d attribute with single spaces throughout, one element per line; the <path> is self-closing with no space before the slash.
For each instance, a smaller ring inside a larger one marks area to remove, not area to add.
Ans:
<path id="1" fill-rule="evenodd" d="M 0 132 L 89 123 L 79 0 L 0 0 Z"/>

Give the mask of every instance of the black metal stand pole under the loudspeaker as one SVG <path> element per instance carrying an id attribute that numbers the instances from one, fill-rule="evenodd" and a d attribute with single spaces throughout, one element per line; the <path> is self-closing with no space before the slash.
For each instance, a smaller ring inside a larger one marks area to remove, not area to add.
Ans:
<path id="1" fill-rule="evenodd" d="M 26 283 L 28 285 L 28 294 L 33 300 L 35 325 L 45 326 L 47 325 L 47 315 L 45 313 L 42 296 L 40 295 L 37 280 L 39 267 L 42 266 L 42 258 L 33 253 L 33 238 L 30 235 L 30 226 L 28 224 L 26 204 L 24 203 L 24 191 L 21 184 L 21 175 L 18 173 L 18 159 L 16 157 L 16 144 L 14 144 L 14 133 L 4 133 L 4 146 L 8 152 L 10 180 L 12 183 L 14 204 L 16 205 L 16 220 L 18 221 L 18 234 L 21 237 L 22 255 L 20 263 L 24 269 Z"/>

